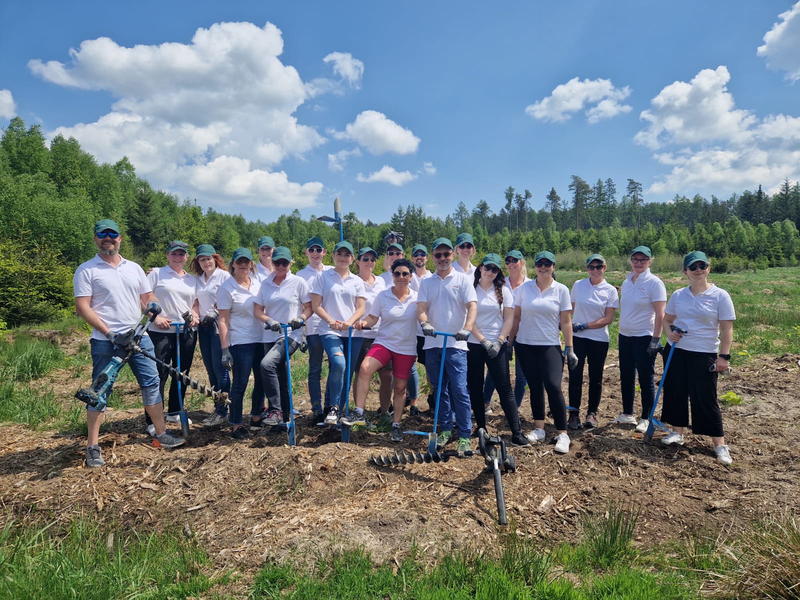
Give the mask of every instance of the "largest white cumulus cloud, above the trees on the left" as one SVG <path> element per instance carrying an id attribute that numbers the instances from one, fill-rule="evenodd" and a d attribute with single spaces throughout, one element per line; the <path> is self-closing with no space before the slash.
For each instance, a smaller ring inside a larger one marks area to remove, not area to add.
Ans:
<path id="1" fill-rule="evenodd" d="M 96 122 L 50 132 L 74 136 L 102 161 L 125 154 L 155 185 L 222 204 L 258 197 L 262 206 L 310 206 L 321 183 L 272 172 L 326 141 L 294 116 L 310 93 L 282 52 L 273 24 L 222 22 L 198 29 L 190 43 L 124 47 L 97 38 L 70 50 L 66 64 L 28 66 L 56 85 L 117 98 Z"/>

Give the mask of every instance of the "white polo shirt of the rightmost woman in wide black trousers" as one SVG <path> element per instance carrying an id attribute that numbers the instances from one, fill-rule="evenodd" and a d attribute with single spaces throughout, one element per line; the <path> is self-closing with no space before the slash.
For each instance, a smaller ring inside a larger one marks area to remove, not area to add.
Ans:
<path id="1" fill-rule="evenodd" d="M 697 295 L 688 287 L 675 290 L 665 312 L 675 315 L 675 326 L 689 332 L 675 347 L 693 352 L 719 352 L 719 322 L 736 320 L 730 294 L 713 283 Z"/>

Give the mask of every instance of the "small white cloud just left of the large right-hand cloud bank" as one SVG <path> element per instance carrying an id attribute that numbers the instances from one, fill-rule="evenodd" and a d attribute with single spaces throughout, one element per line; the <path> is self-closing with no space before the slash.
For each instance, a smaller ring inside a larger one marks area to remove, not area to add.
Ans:
<path id="1" fill-rule="evenodd" d="M 562 83 L 552 94 L 527 106 L 525 112 L 541 121 L 565 122 L 573 113 L 586 110 L 586 120 L 596 123 L 604 118 L 628 113 L 631 107 L 622 104 L 630 96 L 630 87 L 614 87 L 610 79 L 584 79 L 577 77 Z"/>

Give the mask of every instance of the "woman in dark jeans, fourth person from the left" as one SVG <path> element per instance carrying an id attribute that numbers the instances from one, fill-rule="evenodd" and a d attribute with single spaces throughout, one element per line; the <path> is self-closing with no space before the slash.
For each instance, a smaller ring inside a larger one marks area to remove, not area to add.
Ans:
<path id="1" fill-rule="evenodd" d="M 233 372 L 230 384 L 230 436 L 234 439 L 250 438 L 250 432 L 242 426 L 242 402 L 250 374 L 254 374 L 253 394 L 250 399 L 251 424 L 261 421 L 264 406 L 264 386 L 258 376 L 264 344 L 263 327 L 254 317 L 254 305 L 261 283 L 256 276 L 253 253 L 247 248 L 234 250 L 229 266 L 230 279 L 217 290 L 219 310 L 219 342 L 222 345 L 222 365 Z"/>

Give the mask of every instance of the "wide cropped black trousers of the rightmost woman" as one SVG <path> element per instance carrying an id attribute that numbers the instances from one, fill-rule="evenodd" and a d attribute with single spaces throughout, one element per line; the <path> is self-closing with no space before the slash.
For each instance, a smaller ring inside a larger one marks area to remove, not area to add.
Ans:
<path id="1" fill-rule="evenodd" d="M 665 351 L 670 350 L 667 346 Z M 688 427 L 691 405 L 691 430 L 697 435 L 721 438 L 722 412 L 717 401 L 716 371 L 708 370 L 714 364 L 714 352 L 692 352 L 675 348 L 670 368 L 664 381 L 664 406 L 662 421 L 674 427 Z"/>

